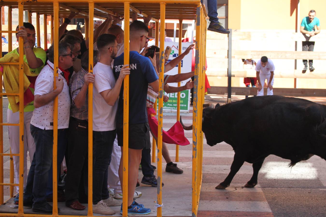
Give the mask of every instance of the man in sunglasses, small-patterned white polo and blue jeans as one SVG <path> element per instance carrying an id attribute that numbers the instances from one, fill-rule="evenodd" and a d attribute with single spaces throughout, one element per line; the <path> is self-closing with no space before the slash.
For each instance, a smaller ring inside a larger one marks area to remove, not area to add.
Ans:
<path id="1" fill-rule="evenodd" d="M 74 55 L 67 43 L 59 43 L 59 62 L 56 89 L 53 88 L 53 46 L 49 48 L 49 60 L 37 76 L 34 91 L 33 116 L 31 119 L 31 134 L 36 144 L 36 151 L 29 169 L 24 195 L 24 206 L 32 207 L 33 211 L 52 213 L 52 206 L 46 200 L 46 189 L 49 170 L 52 165 L 53 151 L 53 106 L 58 96 L 58 141 L 64 140 L 64 130 L 68 128 L 70 112 L 70 96 L 68 75 L 66 71 L 73 65 Z M 59 142 L 58 142 L 59 146 Z M 58 163 L 59 159 L 58 150 Z M 59 211 L 59 209 L 58 209 Z"/>

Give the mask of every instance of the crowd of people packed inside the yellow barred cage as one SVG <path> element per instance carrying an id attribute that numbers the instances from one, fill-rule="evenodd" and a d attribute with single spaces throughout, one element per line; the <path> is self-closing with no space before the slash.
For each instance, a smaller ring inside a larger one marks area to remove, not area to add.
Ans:
<path id="1" fill-rule="evenodd" d="M 93 60 L 89 60 L 89 39 L 84 40 L 78 30 L 66 31 L 72 12 L 59 27 L 58 56 L 54 46 L 48 50 L 35 47 L 35 28 L 24 22 L 17 26 L 17 40 L 23 38 L 23 50 L 9 52 L 4 58 L 18 62 L 24 54 L 24 195 L 23 205 L 36 212 L 52 213 L 52 166 L 57 167 L 58 202 L 67 207 L 84 210 L 87 203 L 88 182 L 88 84 L 93 83 L 93 212 L 104 215 L 115 213 L 111 206 L 121 206 L 122 212 L 122 162 L 123 162 L 123 80 L 129 75 L 129 161 L 128 161 L 128 214 L 149 214 L 151 209 L 137 203 L 135 198 L 138 170 L 141 168 L 141 183 L 157 187 L 151 165 L 150 133 L 157 140 L 157 128 L 150 127 L 149 119 L 155 116 L 152 109 L 158 97 L 159 48 L 153 57 L 147 57 L 149 41 L 148 23 L 133 20 L 130 24 L 129 65 L 124 65 L 124 31 L 116 25 L 119 17 L 111 15 L 94 30 Z M 165 62 L 165 72 L 174 68 L 188 54 L 185 52 Z M 58 61 L 58 76 L 54 74 L 54 58 Z M 88 72 L 89 61 L 93 73 Z M 7 92 L 17 92 L 18 66 L 4 68 L 3 86 Z M 15 77 L 16 76 L 16 77 Z M 194 72 L 179 75 L 164 75 L 164 90 L 167 93 L 191 89 L 193 81 L 182 87 L 168 83 L 180 82 L 194 76 Z M 16 79 L 15 79 L 16 78 Z M 55 88 L 54 88 L 55 81 Z M 16 82 L 16 86 L 14 85 Z M 16 87 L 16 89 L 14 88 Z M 58 97 L 57 165 L 52 165 L 53 110 Z M 8 96 L 8 123 L 19 123 L 19 100 Z M 164 96 L 164 101 L 168 97 Z M 152 109 L 152 110 L 150 110 Z M 151 112 L 148 112 L 151 111 Z M 19 153 L 19 127 L 9 126 L 9 143 L 13 153 Z M 120 146 L 120 147 L 119 147 Z M 27 153 L 31 166 L 27 174 Z M 167 145 L 163 142 L 162 154 L 167 165 L 165 171 L 182 174 L 183 170 L 173 163 Z M 19 156 L 14 156 L 15 182 L 19 183 Z M 60 179 L 61 164 L 65 160 L 67 175 Z M 164 184 L 162 183 L 162 186 Z M 19 187 L 17 186 L 17 192 Z M 14 198 L 19 203 L 17 194 Z M 58 209 L 59 211 L 60 209 Z"/>

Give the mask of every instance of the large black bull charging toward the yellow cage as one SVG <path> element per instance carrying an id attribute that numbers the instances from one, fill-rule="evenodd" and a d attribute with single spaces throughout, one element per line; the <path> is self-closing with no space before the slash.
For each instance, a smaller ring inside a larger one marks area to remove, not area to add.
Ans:
<path id="1" fill-rule="evenodd" d="M 203 110 L 207 144 L 224 141 L 235 152 L 230 173 L 217 189 L 230 186 L 244 161 L 253 167 L 245 187 L 254 187 L 269 155 L 291 160 L 289 166 L 313 155 L 326 160 L 326 105 L 292 97 L 257 96 L 213 107 Z"/>

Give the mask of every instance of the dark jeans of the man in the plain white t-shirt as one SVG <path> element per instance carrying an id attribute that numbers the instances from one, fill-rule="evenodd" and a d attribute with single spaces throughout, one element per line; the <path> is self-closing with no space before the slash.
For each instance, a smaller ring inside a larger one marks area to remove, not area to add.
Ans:
<path id="1" fill-rule="evenodd" d="M 109 198 L 108 167 L 116 130 L 93 131 L 93 204 Z"/>

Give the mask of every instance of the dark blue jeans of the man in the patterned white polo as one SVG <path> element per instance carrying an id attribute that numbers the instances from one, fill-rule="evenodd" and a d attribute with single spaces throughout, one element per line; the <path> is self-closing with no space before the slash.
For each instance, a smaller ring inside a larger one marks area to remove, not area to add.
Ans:
<path id="1" fill-rule="evenodd" d="M 43 206 L 47 203 L 49 173 L 52 174 L 50 169 L 52 168 L 53 130 L 40 129 L 31 125 L 31 134 L 36 150 L 27 176 L 24 200 L 33 200 L 34 204 Z M 58 144 L 62 137 L 64 137 L 64 129 L 58 129 Z"/>

